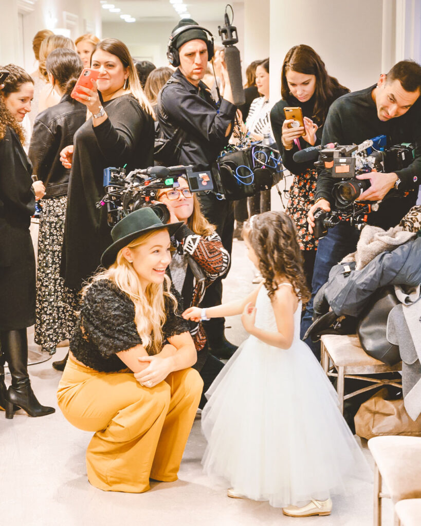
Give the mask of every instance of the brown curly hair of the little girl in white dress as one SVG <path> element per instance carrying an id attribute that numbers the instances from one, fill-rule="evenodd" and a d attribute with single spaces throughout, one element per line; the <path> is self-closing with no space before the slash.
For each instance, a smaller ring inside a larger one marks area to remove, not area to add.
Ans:
<path id="1" fill-rule="evenodd" d="M 273 298 L 278 288 L 276 277 L 282 276 L 305 304 L 310 291 L 293 220 L 284 212 L 265 212 L 247 221 L 243 235 L 256 252 L 269 298 Z"/>

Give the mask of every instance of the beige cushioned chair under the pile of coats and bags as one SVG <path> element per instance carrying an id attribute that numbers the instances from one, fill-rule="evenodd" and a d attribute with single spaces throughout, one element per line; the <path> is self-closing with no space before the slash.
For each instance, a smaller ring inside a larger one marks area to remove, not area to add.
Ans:
<path id="1" fill-rule="evenodd" d="M 362 376 L 400 371 L 402 369 L 402 362 L 394 366 L 388 366 L 386 363 L 368 356 L 359 345 L 359 340 L 356 335 L 326 334 L 323 335 L 320 340 L 322 367 L 327 376 L 335 376 L 338 378 L 336 390 L 338 393 L 340 412 L 344 412 L 344 400 L 359 395 L 359 393 L 376 389 L 381 385 L 401 387 L 402 382 L 400 380 Z M 344 396 L 346 378 L 365 380 L 366 382 L 370 382 L 370 385 Z"/>

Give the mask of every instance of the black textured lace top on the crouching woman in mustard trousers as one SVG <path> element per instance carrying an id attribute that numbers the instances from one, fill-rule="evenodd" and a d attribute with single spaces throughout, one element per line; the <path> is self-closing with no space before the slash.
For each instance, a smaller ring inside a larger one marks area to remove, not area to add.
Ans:
<path id="1" fill-rule="evenodd" d="M 163 338 L 187 332 L 189 325 L 179 313 L 182 312 L 181 296 L 175 289 L 178 310 L 165 298 L 166 322 L 162 328 Z M 126 366 L 116 352 L 142 345 L 137 332 L 135 306 L 125 292 L 112 281 L 95 281 L 82 300 L 76 328 L 70 342 L 73 356 L 87 367 L 101 372 L 115 372 Z"/>

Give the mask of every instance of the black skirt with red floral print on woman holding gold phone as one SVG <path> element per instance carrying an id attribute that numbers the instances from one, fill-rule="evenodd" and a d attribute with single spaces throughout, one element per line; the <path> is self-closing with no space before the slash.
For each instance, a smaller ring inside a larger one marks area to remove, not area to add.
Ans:
<path id="1" fill-rule="evenodd" d="M 304 173 L 294 175 L 289 188 L 289 201 L 286 213 L 294 219 L 301 250 L 316 250 L 317 241 L 308 231 L 307 214 L 316 193 L 317 171 L 309 168 Z"/>

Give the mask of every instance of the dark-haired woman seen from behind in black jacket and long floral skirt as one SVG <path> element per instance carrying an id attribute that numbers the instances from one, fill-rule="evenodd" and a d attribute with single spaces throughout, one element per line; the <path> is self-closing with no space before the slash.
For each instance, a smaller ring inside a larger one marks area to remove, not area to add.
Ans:
<path id="1" fill-rule="evenodd" d="M 57 344 L 70 337 L 78 305 L 74 291 L 65 287 L 59 276 L 70 173 L 59 158 L 60 151 L 72 143 L 84 124 L 86 108 L 70 96 L 82 71 L 75 51 L 55 49 L 48 55 L 45 68 L 61 100 L 38 114 L 28 155 L 34 174 L 46 188 L 39 222 L 35 342 L 53 354 Z"/>

